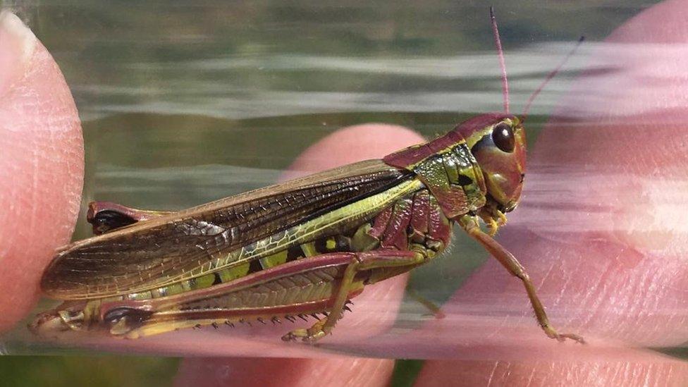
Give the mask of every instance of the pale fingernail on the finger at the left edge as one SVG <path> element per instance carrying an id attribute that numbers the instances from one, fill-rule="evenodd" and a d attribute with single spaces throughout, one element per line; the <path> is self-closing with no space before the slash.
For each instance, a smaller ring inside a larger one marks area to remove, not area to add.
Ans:
<path id="1" fill-rule="evenodd" d="M 0 96 L 23 77 L 36 47 L 36 36 L 10 11 L 0 12 Z"/>

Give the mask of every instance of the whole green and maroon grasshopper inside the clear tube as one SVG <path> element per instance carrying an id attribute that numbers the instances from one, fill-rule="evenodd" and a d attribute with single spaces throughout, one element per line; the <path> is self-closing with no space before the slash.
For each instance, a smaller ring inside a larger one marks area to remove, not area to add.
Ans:
<path id="1" fill-rule="evenodd" d="M 517 259 L 492 237 L 516 208 L 525 176 L 523 119 L 486 113 L 385 156 L 178 212 L 94 202 L 101 234 L 63 247 L 42 291 L 64 300 L 39 314 L 42 336 L 101 331 L 140 338 L 195 326 L 324 314 L 283 340 L 319 340 L 366 285 L 426 264 L 454 225 L 522 281 L 536 319 L 558 333 Z M 486 225 L 486 231 L 481 228 Z"/>

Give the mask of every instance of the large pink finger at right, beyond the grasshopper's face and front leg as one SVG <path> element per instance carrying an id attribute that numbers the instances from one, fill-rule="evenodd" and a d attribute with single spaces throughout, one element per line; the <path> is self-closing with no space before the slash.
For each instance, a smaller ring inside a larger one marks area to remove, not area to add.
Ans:
<path id="1" fill-rule="evenodd" d="M 455 352 L 478 361 L 427 362 L 419 386 L 686 383 L 685 364 L 632 347 L 683 345 L 688 336 L 688 227 L 680 219 L 688 208 L 688 106 L 676 103 L 688 97 L 688 52 L 663 44 L 688 41 L 676 25 L 687 16 L 684 2 L 668 1 L 608 38 L 594 61 L 615 70 L 577 80 L 558 110 L 567 118 L 538 139 L 524 205 L 500 238 L 536 278 L 551 320 L 590 344 L 548 343 L 536 327 L 524 328 L 520 285 L 490 264 L 454 300 L 470 308 L 473 297 L 499 316 L 482 319 L 493 331 L 469 355 Z"/>

